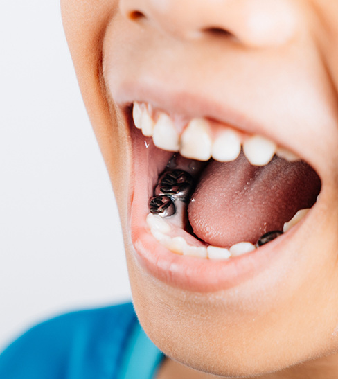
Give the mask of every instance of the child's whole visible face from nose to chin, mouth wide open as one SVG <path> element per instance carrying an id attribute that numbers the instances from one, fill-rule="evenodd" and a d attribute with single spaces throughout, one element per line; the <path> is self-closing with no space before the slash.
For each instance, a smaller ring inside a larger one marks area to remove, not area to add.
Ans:
<path id="1" fill-rule="evenodd" d="M 333 353 L 338 2 L 64 0 L 62 8 L 121 213 L 136 312 L 154 343 L 229 376 Z M 294 155 L 313 170 L 290 163 Z M 168 212 L 175 204 L 175 215 L 147 218 L 168 161 L 193 175 L 188 211 L 164 196 L 157 200 Z M 243 254 L 301 209 L 310 212 L 299 224 Z M 206 248 L 243 241 L 251 244 L 230 253 Z"/>

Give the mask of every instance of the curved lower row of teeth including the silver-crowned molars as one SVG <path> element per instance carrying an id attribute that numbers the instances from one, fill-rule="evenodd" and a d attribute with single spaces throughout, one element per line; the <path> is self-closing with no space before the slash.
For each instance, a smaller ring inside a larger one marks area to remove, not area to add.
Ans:
<path id="1" fill-rule="evenodd" d="M 188 202 L 191 190 L 193 188 L 193 177 L 184 170 L 166 170 L 159 177 L 159 182 L 154 189 L 154 197 L 150 199 L 149 207 L 151 215 L 148 215 L 147 222 L 151 232 L 159 243 L 167 247 L 175 254 L 184 254 L 209 259 L 228 259 L 231 256 L 240 256 L 261 247 L 278 236 L 283 231 L 269 231 L 261 236 L 256 246 L 249 242 L 236 243 L 230 249 L 215 246 L 192 246 L 186 243 L 183 237 L 168 236 L 171 230 L 170 225 L 163 218 L 170 218 L 177 212 L 175 202 Z M 298 223 L 309 209 L 301 209 L 294 215 L 294 218 L 284 224 L 284 232 Z M 151 217 L 150 217 L 151 216 Z M 159 218 L 158 216 L 161 216 Z"/>

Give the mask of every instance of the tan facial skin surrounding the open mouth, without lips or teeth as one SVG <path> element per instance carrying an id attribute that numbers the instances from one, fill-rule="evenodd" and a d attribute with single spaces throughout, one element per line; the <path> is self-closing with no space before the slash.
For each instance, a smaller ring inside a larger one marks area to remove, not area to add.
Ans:
<path id="1" fill-rule="evenodd" d="M 136 11 L 145 17 L 133 17 Z M 158 378 L 337 378 L 338 3 L 62 0 L 62 13 L 118 202 L 136 312 L 172 358 Z M 249 22 L 255 17 L 268 21 Z M 242 109 L 321 177 L 312 222 L 271 267 L 235 288 L 181 290 L 155 279 L 134 257 L 128 222 L 134 157 L 119 101 L 125 81 L 148 73 L 163 86 L 179 83 Z"/>

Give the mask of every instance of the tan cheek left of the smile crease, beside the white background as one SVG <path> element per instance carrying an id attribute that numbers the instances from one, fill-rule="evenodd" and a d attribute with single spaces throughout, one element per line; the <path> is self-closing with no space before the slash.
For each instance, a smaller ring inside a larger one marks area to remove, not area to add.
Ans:
<path id="1" fill-rule="evenodd" d="M 116 200 L 123 209 L 130 166 L 129 136 L 105 89 L 102 67 L 104 38 L 108 24 L 114 23 L 117 5 L 118 0 L 61 1 L 64 30 L 84 104 L 112 179 Z"/>

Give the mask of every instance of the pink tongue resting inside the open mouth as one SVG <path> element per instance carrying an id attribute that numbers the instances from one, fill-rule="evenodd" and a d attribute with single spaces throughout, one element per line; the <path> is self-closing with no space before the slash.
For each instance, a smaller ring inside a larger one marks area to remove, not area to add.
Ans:
<path id="1" fill-rule="evenodd" d="M 267 231 L 283 230 L 299 209 L 310 208 L 320 189 L 317 173 L 304 161 L 274 157 L 258 167 L 241 154 L 229 163 L 208 164 L 188 217 L 195 235 L 210 245 L 256 243 Z"/>

